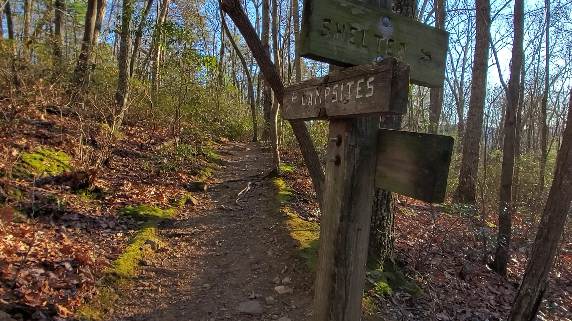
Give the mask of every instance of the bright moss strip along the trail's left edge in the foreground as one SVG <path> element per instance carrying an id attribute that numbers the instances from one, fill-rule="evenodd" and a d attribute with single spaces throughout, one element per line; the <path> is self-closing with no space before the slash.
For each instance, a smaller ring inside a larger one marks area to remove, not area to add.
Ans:
<path id="1" fill-rule="evenodd" d="M 150 249 L 140 250 L 148 239 L 161 244 L 157 235 L 157 223 L 164 219 L 170 219 L 176 212 L 175 208 L 165 210 L 149 205 L 135 205 L 124 207 L 118 211 L 119 215 L 130 216 L 143 222 L 137 235 L 129 242 L 129 245 L 122 252 L 120 258 L 115 260 L 106 271 L 105 278 L 101 285 L 97 287 L 98 296 L 96 299 L 83 306 L 77 315 L 82 320 L 102 320 L 109 314 L 109 309 L 113 307 L 117 300 L 117 291 L 131 283 L 130 279 L 137 276 L 139 261 L 145 255 L 152 255 Z"/>

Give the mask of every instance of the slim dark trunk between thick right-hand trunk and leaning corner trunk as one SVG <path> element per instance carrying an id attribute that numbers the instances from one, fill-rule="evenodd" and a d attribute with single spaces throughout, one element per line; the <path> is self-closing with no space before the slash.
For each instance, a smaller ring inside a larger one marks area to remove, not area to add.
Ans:
<path id="1" fill-rule="evenodd" d="M 513 224 L 513 174 L 515 159 L 515 135 L 517 130 L 517 109 L 521 97 L 521 69 L 523 63 L 523 37 L 525 21 L 525 0 L 514 2 L 513 58 L 510 65 L 509 89 L 503 140 L 501 187 L 499 190 L 499 232 L 496 239 L 496 255 L 492 268 L 505 276 L 510 259 L 510 234 Z"/>

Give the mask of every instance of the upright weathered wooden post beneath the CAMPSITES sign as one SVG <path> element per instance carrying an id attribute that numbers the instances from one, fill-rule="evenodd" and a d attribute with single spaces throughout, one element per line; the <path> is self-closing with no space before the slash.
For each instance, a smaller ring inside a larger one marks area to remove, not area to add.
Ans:
<path id="1" fill-rule="evenodd" d="M 329 143 L 320 223 L 313 321 L 356 321 L 362 316 L 374 193 L 379 118 L 336 119 Z"/>

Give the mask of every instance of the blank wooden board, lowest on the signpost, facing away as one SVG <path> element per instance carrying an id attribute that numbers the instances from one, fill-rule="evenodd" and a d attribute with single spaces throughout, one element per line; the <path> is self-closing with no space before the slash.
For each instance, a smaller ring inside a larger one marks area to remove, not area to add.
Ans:
<path id="1" fill-rule="evenodd" d="M 443 203 L 451 136 L 380 129 L 375 186 L 430 203 Z"/>

